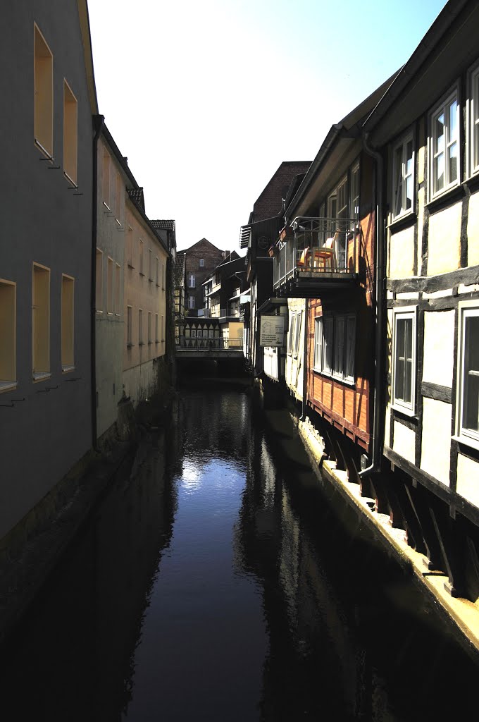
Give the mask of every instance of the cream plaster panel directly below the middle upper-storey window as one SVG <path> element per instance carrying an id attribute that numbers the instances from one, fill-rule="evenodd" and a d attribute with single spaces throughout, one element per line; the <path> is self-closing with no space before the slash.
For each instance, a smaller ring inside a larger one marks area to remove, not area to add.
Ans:
<path id="1" fill-rule="evenodd" d="M 429 218 L 428 276 L 455 271 L 460 267 L 462 204 L 434 213 Z"/>

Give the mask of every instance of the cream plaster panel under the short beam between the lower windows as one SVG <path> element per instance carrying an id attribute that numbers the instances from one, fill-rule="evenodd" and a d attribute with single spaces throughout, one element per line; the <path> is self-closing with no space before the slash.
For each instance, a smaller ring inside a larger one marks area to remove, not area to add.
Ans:
<path id="1" fill-rule="evenodd" d="M 449 486 L 451 451 L 451 404 L 423 399 L 421 469 Z"/>

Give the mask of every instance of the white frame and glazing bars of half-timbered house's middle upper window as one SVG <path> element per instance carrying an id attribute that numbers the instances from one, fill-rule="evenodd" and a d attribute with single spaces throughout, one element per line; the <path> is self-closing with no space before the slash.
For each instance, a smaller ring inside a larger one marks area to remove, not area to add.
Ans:
<path id="1" fill-rule="evenodd" d="M 454 103 L 454 101 L 457 103 L 456 108 L 456 127 L 457 127 L 457 136 L 451 141 L 450 138 L 450 123 L 449 123 L 449 108 Z M 440 152 L 435 152 L 435 142 L 436 138 L 434 136 L 434 121 L 436 118 L 438 118 L 441 113 L 444 113 L 444 147 Z M 452 148 L 452 146 L 456 144 L 457 148 L 457 170 L 456 170 L 456 178 L 454 181 L 449 180 L 449 162 L 448 162 L 448 154 L 449 150 Z M 440 155 L 444 155 L 444 185 L 442 188 L 435 189 L 434 188 L 434 164 L 436 161 L 436 158 Z M 447 191 L 450 191 L 451 188 L 456 188 L 460 184 L 460 168 L 461 168 L 461 104 L 460 104 L 460 94 L 459 94 L 459 87 L 458 85 L 454 85 L 454 87 L 447 93 L 447 95 L 444 95 L 440 102 L 437 103 L 433 110 L 429 113 L 429 201 L 433 201 L 436 198 L 439 198 L 444 193 L 447 193 Z"/>

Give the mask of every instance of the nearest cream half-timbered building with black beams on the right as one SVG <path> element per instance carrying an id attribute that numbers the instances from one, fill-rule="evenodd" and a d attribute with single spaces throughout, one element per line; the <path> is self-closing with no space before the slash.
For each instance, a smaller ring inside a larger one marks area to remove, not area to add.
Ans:
<path id="1" fill-rule="evenodd" d="M 387 256 L 378 503 L 428 567 L 447 573 L 449 591 L 471 599 L 479 592 L 478 31 L 476 2 L 448 2 L 364 126 L 379 151 Z"/>

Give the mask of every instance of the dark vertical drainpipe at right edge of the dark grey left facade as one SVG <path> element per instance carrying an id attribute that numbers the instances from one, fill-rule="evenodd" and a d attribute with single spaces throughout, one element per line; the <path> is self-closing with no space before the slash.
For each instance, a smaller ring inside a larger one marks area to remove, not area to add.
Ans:
<path id="1" fill-rule="evenodd" d="M 96 324 L 97 324 L 97 308 L 96 308 L 96 289 L 97 289 L 97 145 L 98 139 L 102 133 L 105 124 L 105 116 L 93 116 L 93 127 L 95 128 L 95 136 L 93 138 L 93 205 L 92 205 L 92 290 L 91 290 L 91 308 L 92 323 L 90 329 L 90 349 L 91 349 L 91 371 L 92 371 L 92 447 L 99 452 L 97 445 L 97 368 L 96 368 Z"/>

